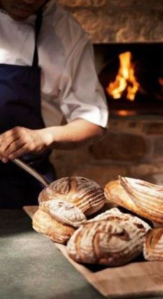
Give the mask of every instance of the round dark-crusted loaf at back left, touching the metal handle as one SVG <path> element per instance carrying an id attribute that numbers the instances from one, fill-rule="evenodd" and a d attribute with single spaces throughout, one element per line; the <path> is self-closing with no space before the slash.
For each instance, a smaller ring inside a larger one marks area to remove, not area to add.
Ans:
<path id="1" fill-rule="evenodd" d="M 105 203 L 104 190 L 99 184 L 81 176 L 58 179 L 39 194 L 39 203 L 54 199 L 73 203 L 86 216 L 97 212 Z"/>

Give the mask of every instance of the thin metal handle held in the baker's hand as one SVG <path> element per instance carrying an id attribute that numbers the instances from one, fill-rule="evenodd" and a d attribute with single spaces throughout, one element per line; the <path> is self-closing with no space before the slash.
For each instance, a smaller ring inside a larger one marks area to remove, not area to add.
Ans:
<path id="1" fill-rule="evenodd" d="M 21 167 L 23 170 L 25 170 L 26 172 L 28 172 L 32 176 L 34 176 L 35 179 L 37 179 L 45 187 L 48 186 L 49 183 L 44 179 L 43 176 L 41 176 L 41 174 L 39 174 L 39 172 L 37 172 L 36 170 L 34 170 L 32 167 L 30 167 L 29 165 L 27 165 L 23 161 L 19 160 L 19 158 L 11 159 L 11 161 L 13 163 L 17 164 L 19 167 Z"/>

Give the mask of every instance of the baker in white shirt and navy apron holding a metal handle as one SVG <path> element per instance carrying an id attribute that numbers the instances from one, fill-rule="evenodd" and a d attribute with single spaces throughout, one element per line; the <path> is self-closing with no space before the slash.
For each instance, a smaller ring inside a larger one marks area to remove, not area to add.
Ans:
<path id="1" fill-rule="evenodd" d="M 93 143 L 107 118 L 92 46 L 69 12 L 55 1 L 0 0 L 0 207 L 37 204 L 41 191 L 13 158 L 54 181 L 51 149 Z"/>

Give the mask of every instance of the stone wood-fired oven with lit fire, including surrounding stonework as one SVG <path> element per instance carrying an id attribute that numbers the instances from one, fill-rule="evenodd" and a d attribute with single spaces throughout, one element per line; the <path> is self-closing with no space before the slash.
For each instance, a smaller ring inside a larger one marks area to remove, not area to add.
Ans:
<path id="1" fill-rule="evenodd" d="M 59 1 L 90 34 L 110 111 L 104 140 L 68 153 L 70 163 L 58 154 L 59 176 L 86 176 L 104 186 L 121 174 L 162 185 L 162 0 Z M 130 70 L 120 70 L 120 57 Z"/>

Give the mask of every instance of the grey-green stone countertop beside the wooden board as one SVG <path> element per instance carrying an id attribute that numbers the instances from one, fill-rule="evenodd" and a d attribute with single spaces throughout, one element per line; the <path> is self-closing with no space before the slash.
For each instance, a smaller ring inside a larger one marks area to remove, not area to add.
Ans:
<path id="1" fill-rule="evenodd" d="M 104 298 L 50 239 L 32 229 L 23 210 L 0 210 L 0 219 L 1 299 Z"/>

